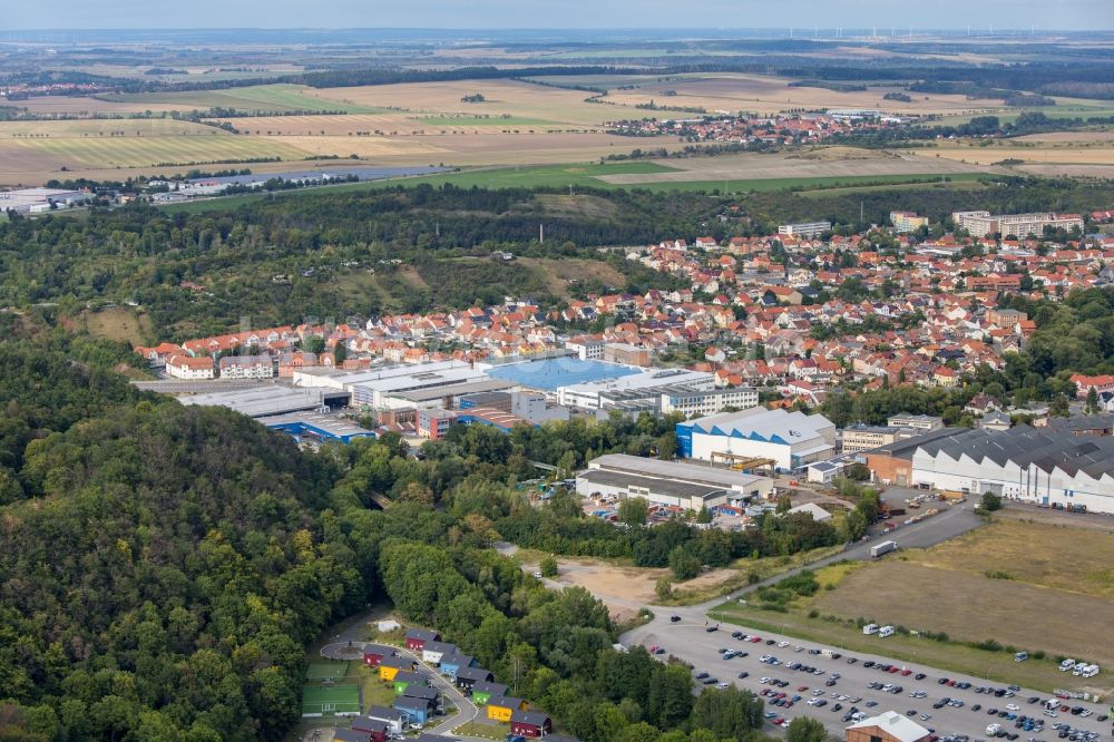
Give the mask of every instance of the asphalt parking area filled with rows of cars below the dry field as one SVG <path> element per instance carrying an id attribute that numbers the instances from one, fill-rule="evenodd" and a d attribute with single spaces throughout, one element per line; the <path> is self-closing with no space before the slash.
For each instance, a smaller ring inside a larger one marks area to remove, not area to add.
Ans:
<path id="1" fill-rule="evenodd" d="M 801 695 L 801 701 L 794 703 L 791 709 L 769 706 L 768 704 L 768 711 L 775 711 L 779 716 L 783 716 L 788 720 L 792 720 L 798 716 L 811 716 L 813 719 L 819 719 L 831 732 L 837 733 L 840 736 L 843 735 L 843 730 L 848 726 L 848 724 L 842 721 L 842 716 L 852 704 L 843 701 L 843 709 L 841 711 L 833 712 L 832 706 L 836 704 L 837 699 L 832 697 L 832 692 L 852 697 L 859 696 L 862 699 L 861 702 L 853 705 L 858 706 L 859 710 L 867 715 L 873 715 L 883 711 L 896 711 L 903 714 L 909 710 L 915 710 L 917 712 L 917 715 L 915 716 L 917 723 L 936 730 L 936 733 L 941 736 L 946 734 L 967 734 L 973 740 L 986 739 L 987 724 L 997 722 L 1000 723 L 1006 731 L 1019 734 L 1019 742 L 1027 740 L 1028 738 L 1053 742 L 1057 740 L 1057 732 L 1052 729 L 1052 724 L 1066 722 L 1075 729 L 1100 732 L 1103 734 L 1104 740 L 1110 739 L 1111 723 L 1098 722 L 1098 716 L 1108 712 L 1108 705 L 1104 706 L 1082 701 L 1065 701 L 1063 703 L 1067 703 L 1073 707 L 1082 705 L 1091 709 L 1094 714 L 1089 719 L 1082 719 L 1079 716 L 1073 716 L 1066 712 L 1057 712 L 1057 717 L 1047 717 L 1042 715 L 1040 712 L 1043 711 L 1043 707 L 1039 703 L 1029 704 L 1027 702 L 1027 700 L 1032 696 L 1039 696 L 1042 701 L 1048 699 L 1049 696 L 1045 693 L 1022 690 L 1016 693 L 1016 697 L 1012 699 L 979 694 L 975 692 L 975 689 L 980 685 L 991 685 L 998 689 L 1005 687 L 1005 685 L 956 673 L 946 673 L 916 664 L 901 665 L 899 663 L 899 666 L 908 667 L 912 671 L 912 674 L 908 676 L 902 676 L 899 673 L 883 673 L 877 668 L 862 666 L 862 663 L 868 660 L 872 660 L 878 663 L 892 662 L 887 660 L 882 654 L 849 654 L 841 652 L 837 647 L 828 647 L 821 644 L 804 642 L 802 640 L 795 640 L 779 634 L 770 634 L 766 632 L 760 633 L 762 641 L 759 643 L 741 642 L 732 638 L 731 632 L 739 629 L 747 633 L 745 628 L 724 624 L 720 631 L 707 633 L 703 618 L 694 621 L 694 618 L 701 614 L 695 612 L 693 608 L 677 608 L 673 615 L 683 616 L 683 621 L 677 624 L 670 622 L 670 615 L 668 609 L 659 611 L 653 622 L 625 634 L 623 636 L 623 643 L 627 646 L 634 644 L 642 644 L 647 647 L 659 645 L 666 652 L 666 654 L 659 655 L 663 660 L 670 655 L 676 656 L 680 660 L 691 663 L 696 672 L 705 671 L 713 677 L 717 677 L 720 681 L 731 682 L 737 687 L 750 690 L 754 693 L 760 693 L 763 689 L 771 687 L 759 682 L 761 677 L 772 677 L 788 681 L 789 686 L 775 690 L 786 693 L 790 697 L 793 695 Z M 788 642 L 788 646 L 780 647 L 776 644 L 766 644 L 766 640 L 771 638 L 776 642 Z M 886 640 L 878 640 L 879 650 L 885 648 L 885 643 Z M 797 646 L 802 646 L 803 651 L 795 652 L 794 647 Z M 719 648 L 721 647 L 745 651 L 750 654 L 746 657 L 723 660 L 719 653 Z M 809 654 L 809 650 L 812 648 L 827 648 L 833 652 L 841 652 L 843 656 L 839 660 L 831 660 Z M 763 664 L 760 662 L 760 657 L 764 654 L 773 655 L 774 657 L 781 660 L 783 664 L 780 666 Z M 848 664 L 847 660 L 851 656 L 857 657 L 858 662 L 854 664 Z M 817 668 L 822 668 L 824 674 L 822 676 L 809 675 L 800 671 L 788 670 L 785 665 L 794 661 L 812 665 Z M 750 676 L 746 678 L 739 678 L 739 673 L 743 671 L 750 673 Z M 840 673 L 841 677 L 837 680 L 834 686 L 829 687 L 825 685 L 825 682 L 831 673 Z M 927 676 L 921 681 L 917 681 L 915 680 L 917 673 L 925 673 Z M 947 687 L 937 682 L 940 677 L 967 681 L 971 683 L 973 686 L 966 691 L 958 690 L 956 687 Z M 896 695 L 883 693 L 881 691 L 872 691 L 868 689 L 868 684 L 871 681 L 895 683 L 897 685 L 901 685 L 903 691 Z M 807 690 L 799 691 L 798 689 L 801 686 L 807 686 Z M 812 697 L 812 691 L 815 689 L 822 689 L 824 691 L 823 697 L 828 700 L 827 706 L 817 709 L 809 706 L 805 703 L 808 699 Z M 909 694 L 915 691 L 924 691 L 928 695 L 925 699 L 910 697 Z M 944 696 L 958 699 L 962 701 L 965 705 L 961 709 L 952 706 L 944 706 L 938 710 L 932 709 L 932 704 Z M 876 701 L 877 705 L 868 707 L 866 705 L 868 701 Z M 1020 707 L 1020 711 L 1017 712 L 1018 714 L 1043 719 L 1045 722 L 1045 731 L 1038 735 L 1033 732 L 1023 732 L 1022 730 L 1014 728 L 1013 721 L 1007 721 L 997 716 L 991 717 L 986 713 L 987 709 L 990 707 L 1004 711 L 1006 710 L 1006 704 L 1008 703 L 1017 704 Z M 974 704 L 981 704 L 981 710 L 973 711 L 971 706 Z M 930 714 L 931 717 L 926 721 L 921 721 L 920 714 L 922 713 Z"/>

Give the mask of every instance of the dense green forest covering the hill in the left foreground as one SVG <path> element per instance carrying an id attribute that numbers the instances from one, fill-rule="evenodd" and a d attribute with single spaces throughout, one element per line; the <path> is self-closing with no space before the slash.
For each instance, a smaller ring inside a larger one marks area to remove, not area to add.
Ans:
<path id="1" fill-rule="evenodd" d="M 761 739 L 761 701 L 694 699 L 687 667 L 614 652 L 586 592 L 548 590 L 489 548 L 534 511 L 512 484 L 527 457 L 639 451 L 668 422 L 473 427 L 423 460 L 393 436 L 303 452 L 234 412 L 136 392 L 104 370 L 126 348 L 0 325 L 0 739 L 281 739 L 304 646 L 384 598 L 587 742 Z M 369 509 L 373 492 L 395 505 Z"/>

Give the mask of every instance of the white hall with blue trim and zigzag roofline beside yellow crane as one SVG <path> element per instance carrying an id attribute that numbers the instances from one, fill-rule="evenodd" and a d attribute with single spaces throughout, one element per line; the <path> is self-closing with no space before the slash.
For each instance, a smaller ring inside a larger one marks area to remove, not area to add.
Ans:
<path id="1" fill-rule="evenodd" d="M 822 414 L 755 407 L 677 423 L 677 443 L 690 459 L 771 459 L 791 471 L 836 456 L 836 426 Z"/>

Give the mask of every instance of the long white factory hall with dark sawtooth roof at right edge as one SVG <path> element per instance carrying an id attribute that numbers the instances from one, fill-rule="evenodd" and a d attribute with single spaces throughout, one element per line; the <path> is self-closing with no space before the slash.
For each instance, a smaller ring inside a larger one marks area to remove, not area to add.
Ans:
<path id="1" fill-rule="evenodd" d="M 912 484 L 1114 512 L 1114 438 L 1028 426 L 966 430 L 918 446 Z"/>

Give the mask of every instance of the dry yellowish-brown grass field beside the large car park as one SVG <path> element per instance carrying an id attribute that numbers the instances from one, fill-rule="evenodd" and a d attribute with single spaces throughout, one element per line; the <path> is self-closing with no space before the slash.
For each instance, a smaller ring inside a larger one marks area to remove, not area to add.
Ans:
<path id="1" fill-rule="evenodd" d="M 1056 671 L 1056 656 L 1114 663 L 1114 647 L 1098 640 L 1114 622 L 1111 564 L 1114 534 L 996 520 L 939 546 L 903 550 L 849 570 L 832 589 L 799 601 L 785 613 L 737 605 L 721 611 L 747 625 L 784 626 L 794 635 L 859 651 L 877 648 L 878 640 L 863 637 L 857 619 L 942 632 L 951 641 L 890 637 L 887 654 L 1047 690 L 1081 685 Z M 1047 658 L 1017 664 L 1008 652 L 957 644 L 991 638 L 1030 653 L 1043 651 Z M 1097 686 L 1110 685 L 1103 677 Z M 1096 681 L 1089 683 L 1097 687 Z"/>

